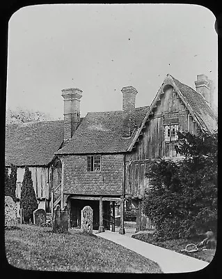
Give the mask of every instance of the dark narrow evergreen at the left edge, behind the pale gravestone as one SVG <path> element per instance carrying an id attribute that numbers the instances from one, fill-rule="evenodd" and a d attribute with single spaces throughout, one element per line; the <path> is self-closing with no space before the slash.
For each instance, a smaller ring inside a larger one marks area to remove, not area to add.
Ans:
<path id="1" fill-rule="evenodd" d="M 5 196 L 10 196 L 13 198 L 13 201 L 16 202 L 16 181 L 17 181 L 17 167 L 15 165 L 10 166 L 11 172 L 8 176 L 8 168 L 5 168 Z"/>

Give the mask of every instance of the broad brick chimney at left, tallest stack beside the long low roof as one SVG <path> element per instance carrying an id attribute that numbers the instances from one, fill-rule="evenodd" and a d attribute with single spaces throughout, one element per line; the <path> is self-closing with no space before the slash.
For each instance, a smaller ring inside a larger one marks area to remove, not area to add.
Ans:
<path id="1" fill-rule="evenodd" d="M 70 140 L 80 122 L 80 99 L 82 91 L 78 88 L 62 90 L 64 99 L 64 140 Z"/>

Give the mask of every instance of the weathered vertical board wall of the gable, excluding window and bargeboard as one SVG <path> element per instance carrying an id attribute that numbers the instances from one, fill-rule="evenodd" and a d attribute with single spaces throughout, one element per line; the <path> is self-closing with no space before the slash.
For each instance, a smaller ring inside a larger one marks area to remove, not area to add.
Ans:
<path id="1" fill-rule="evenodd" d="M 193 134 L 198 130 L 189 110 L 172 89 L 161 94 L 153 112 L 135 148 L 126 156 L 125 193 L 132 197 L 143 196 L 145 188 L 148 188 L 149 181 L 145 174 L 152 160 L 179 157 L 175 152 L 175 142 L 164 142 L 164 125 L 179 124 L 180 131 Z"/>

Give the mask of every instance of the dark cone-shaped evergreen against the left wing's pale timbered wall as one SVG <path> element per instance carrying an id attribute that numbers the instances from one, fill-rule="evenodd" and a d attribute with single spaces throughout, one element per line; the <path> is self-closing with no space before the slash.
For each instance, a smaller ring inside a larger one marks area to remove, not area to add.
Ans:
<path id="1" fill-rule="evenodd" d="M 35 197 L 35 191 L 33 189 L 33 181 L 31 179 L 31 171 L 29 167 L 25 167 L 24 179 L 22 181 L 20 207 L 24 211 L 24 222 L 33 222 L 33 211 L 38 209 L 38 202 Z"/>

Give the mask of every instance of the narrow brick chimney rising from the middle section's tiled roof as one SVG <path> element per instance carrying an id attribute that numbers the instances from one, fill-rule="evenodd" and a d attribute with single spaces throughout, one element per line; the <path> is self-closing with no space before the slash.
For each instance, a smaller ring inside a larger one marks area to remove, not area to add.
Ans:
<path id="1" fill-rule="evenodd" d="M 135 128 L 135 101 L 138 93 L 133 86 L 122 88 L 123 129 L 122 137 L 131 137 Z"/>

